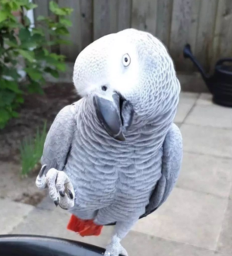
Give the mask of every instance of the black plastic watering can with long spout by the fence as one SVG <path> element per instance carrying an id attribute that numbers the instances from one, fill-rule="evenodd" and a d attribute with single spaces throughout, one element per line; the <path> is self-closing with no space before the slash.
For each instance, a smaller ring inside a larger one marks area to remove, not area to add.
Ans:
<path id="1" fill-rule="evenodd" d="M 196 65 L 207 87 L 213 95 L 213 102 L 221 106 L 232 107 L 232 58 L 217 61 L 212 76 L 203 71 L 199 62 L 193 57 L 191 47 L 186 44 L 183 55 Z"/>

